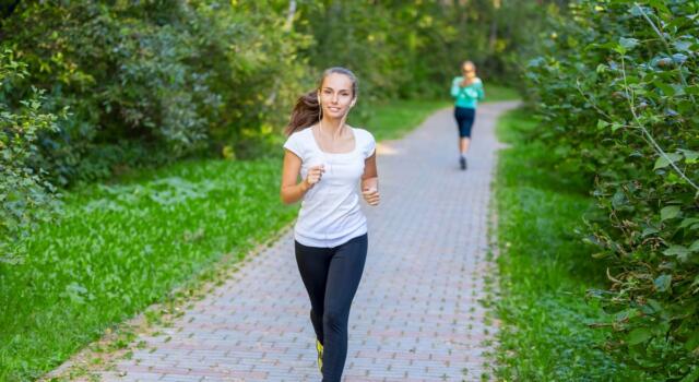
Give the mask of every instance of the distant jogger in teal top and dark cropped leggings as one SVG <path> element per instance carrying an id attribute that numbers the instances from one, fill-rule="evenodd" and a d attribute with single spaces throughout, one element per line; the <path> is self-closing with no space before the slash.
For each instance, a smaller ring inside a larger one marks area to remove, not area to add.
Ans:
<path id="1" fill-rule="evenodd" d="M 454 102 L 454 118 L 459 124 L 459 165 L 466 169 L 466 153 L 471 144 L 471 129 L 476 117 L 478 100 L 485 97 L 483 82 L 476 76 L 476 65 L 465 61 L 461 65 L 463 75 L 451 82 L 451 96 Z"/>

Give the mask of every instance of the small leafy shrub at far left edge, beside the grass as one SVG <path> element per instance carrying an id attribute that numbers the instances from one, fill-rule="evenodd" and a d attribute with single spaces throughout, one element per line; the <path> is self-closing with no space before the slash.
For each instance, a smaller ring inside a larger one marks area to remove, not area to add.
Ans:
<path id="1" fill-rule="evenodd" d="M 0 50 L 0 263 L 19 261 L 23 249 L 16 240 L 58 207 L 54 187 L 31 166 L 37 135 L 55 130 L 57 117 L 42 112 L 44 95 L 35 88 L 17 106 L 8 103 L 26 75 L 12 50 Z"/>

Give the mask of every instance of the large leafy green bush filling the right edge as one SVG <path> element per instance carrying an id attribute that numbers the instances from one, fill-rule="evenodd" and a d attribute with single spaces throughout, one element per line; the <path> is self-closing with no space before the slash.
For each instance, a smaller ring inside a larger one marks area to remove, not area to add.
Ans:
<path id="1" fill-rule="evenodd" d="M 582 174 L 608 290 L 607 349 L 664 380 L 699 375 L 699 4 L 583 0 L 530 65 L 561 177 Z"/>

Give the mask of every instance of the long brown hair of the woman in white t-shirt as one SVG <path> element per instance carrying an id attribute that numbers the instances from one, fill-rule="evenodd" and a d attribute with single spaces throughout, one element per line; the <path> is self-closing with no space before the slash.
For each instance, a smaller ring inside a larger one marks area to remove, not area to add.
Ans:
<path id="1" fill-rule="evenodd" d="M 304 130 L 306 128 L 311 127 L 313 123 L 320 120 L 321 108 L 318 103 L 318 93 L 320 87 L 323 85 L 323 81 L 325 77 L 333 73 L 344 74 L 352 80 L 352 97 L 357 98 L 357 76 L 350 69 L 345 69 L 342 67 L 334 67 L 327 69 L 323 72 L 323 75 L 320 77 L 320 82 L 318 83 L 318 87 L 313 91 L 310 91 L 296 100 L 296 105 L 294 106 L 294 111 L 292 111 L 292 118 L 286 126 L 284 132 L 286 135 L 291 135 L 297 131 Z"/>

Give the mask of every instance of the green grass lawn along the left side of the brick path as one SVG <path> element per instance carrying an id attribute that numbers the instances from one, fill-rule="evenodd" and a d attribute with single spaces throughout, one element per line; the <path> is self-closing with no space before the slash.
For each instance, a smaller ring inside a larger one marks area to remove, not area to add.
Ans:
<path id="1" fill-rule="evenodd" d="M 443 102 L 395 102 L 368 124 L 399 138 Z M 280 147 L 281 154 L 281 147 Z M 296 216 L 281 159 L 191 160 L 66 193 L 64 213 L 0 263 L 0 381 L 34 380 L 174 288 L 242 259 Z"/>

